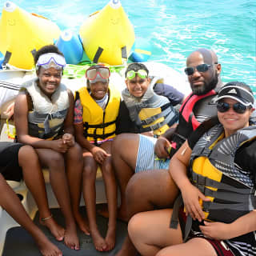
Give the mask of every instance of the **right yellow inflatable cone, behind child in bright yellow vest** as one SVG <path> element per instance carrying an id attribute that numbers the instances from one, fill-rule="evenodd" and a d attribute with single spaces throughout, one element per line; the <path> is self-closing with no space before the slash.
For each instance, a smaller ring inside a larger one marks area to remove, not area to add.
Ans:
<path id="1" fill-rule="evenodd" d="M 90 15 L 79 31 L 83 48 L 92 62 L 121 65 L 134 44 L 134 27 L 121 3 L 110 1 Z"/>

